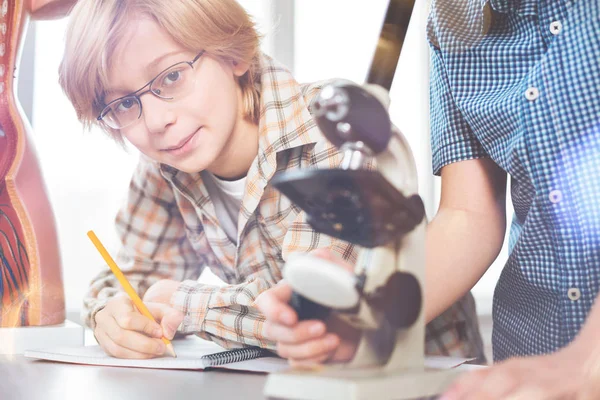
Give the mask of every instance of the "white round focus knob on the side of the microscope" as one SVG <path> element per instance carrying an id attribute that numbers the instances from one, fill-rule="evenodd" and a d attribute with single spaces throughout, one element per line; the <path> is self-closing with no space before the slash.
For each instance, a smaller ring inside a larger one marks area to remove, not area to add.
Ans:
<path id="1" fill-rule="evenodd" d="M 296 293 L 325 307 L 350 309 L 360 300 L 356 276 L 320 257 L 293 257 L 286 263 L 283 277 Z"/>

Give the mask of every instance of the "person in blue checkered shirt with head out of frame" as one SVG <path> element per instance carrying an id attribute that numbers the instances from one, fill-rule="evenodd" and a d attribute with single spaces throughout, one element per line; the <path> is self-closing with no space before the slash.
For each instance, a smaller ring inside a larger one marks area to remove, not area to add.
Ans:
<path id="1" fill-rule="evenodd" d="M 428 319 L 498 254 L 507 174 L 515 208 L 492 337 L 494 359 L 508 361 L 466 376 L 445 400 L 600 398 L 599 17 L 596 0 L 433 2 L 442 195 L 427 232 Z M 310 341 L 317 359 L 327 345 L 285 321 L 295 318 L 288 296 L 280 285 L 258 301 L 270 337 L 291 358 Z"/>

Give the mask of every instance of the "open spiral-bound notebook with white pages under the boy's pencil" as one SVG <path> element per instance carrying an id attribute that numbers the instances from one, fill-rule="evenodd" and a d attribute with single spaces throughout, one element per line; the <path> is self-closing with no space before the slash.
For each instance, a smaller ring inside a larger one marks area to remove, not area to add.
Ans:
<path id="1" fill-rule="evenodd" d="M 174 340 L 173 347 L 177 353 L 177 358 L 161 357 L 151 360 L 128 360 L 114 358 L 106 355 L 99 346 L 85 347 L 60 347 L 52 349 L 29 350 L 25 352 L 25 357 L 58 361 L 74 364 L 104 365 L 114 367 L 134 367 L 134 368 L 156 368 L 156 369 L 205 369 L 225 368 L 241 371 L 254 372 L 279 372 L 288 368 L 287 361 L 279 357 L 260 357 L 246 361 L 231 362 L 223 365 L 211 366 L 207 361 L 207 355 L 221 353 L 218 357 L 221 359 L 231 359 L 231 353 L 216 345 L 215 343 L 190 336 L 185 339 Z M 426 357 L 425 365 L 429 368 L 455 368 L 463 365 L 465 358 L 454 357 Z"/>

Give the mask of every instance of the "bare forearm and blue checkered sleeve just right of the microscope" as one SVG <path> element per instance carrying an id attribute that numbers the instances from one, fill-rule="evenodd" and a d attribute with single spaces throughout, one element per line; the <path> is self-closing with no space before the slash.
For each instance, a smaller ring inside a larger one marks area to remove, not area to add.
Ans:
<path id="1" fill-rule="evenodd" d="M 491 159 L 454 96 L 430 26 L 432 167 L 440 206 L 427 228 L 426 319 L 470 290 L 497 257 L 506 231 L 506 172 Z"/>

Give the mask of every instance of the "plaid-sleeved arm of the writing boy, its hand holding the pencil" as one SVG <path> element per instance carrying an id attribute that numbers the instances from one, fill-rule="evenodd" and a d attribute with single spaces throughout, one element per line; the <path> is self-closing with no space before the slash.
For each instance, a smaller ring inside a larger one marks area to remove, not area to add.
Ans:
<path id="1" fill-rule="evenodd" d="M 116 228 L 121 239 L 117 264 L 140 296 L 154 284 L 163 286 L 165 279 L 198 277 L 207 265 L 187 240 L 173 191 L 157 165 L 145 158 L 134 171 Z M 123 294 L 108 268 L 92 281 L 84 298 L 83 319 L 98 344 L 118 358 L 162 355 L 166 347 L 160 338 L 171 339 L 184 316 L 168 302 L 145 300 L 155 322 Z"/>

